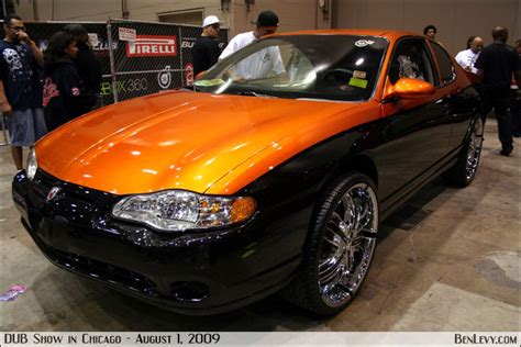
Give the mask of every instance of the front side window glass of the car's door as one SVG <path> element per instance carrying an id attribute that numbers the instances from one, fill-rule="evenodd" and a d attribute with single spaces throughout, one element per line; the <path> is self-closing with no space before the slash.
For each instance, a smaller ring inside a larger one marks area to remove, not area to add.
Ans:
<path id="1" fill-rule="evenodd" d="M 389 78 L 392 85 L 402 77 L 436 85 L 429 51 L 422 40 L 399 42 L 390 61 Z"/>

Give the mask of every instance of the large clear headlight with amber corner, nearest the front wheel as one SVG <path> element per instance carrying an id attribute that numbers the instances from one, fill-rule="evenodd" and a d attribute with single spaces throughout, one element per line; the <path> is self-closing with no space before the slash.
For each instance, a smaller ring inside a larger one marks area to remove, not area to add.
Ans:
<path id="1" fill-rule="evenodd" d="M 255 200 L 247 197 L 211 197 L 168 190 L 123 198 L 112 208 L 112 215 L 176 232 L 239 223 L 252 216 L 255 206 Z"/>

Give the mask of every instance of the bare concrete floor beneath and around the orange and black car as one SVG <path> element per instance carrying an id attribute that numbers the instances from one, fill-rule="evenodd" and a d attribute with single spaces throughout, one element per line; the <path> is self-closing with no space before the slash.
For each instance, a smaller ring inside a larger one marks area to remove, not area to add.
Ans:
<path id="1" fill-rule="evenodd" d="M 317 320 L 277 296 L 190 317 L 106 289 L 51 265 L 11 201 L 14 167 L 0 147 L 0 331 L 510 331 L 521 329 L 521 142 L 499 155 L 486 125 L 481 166 L 466 189 L 435 180 L 387 220 L 365 287 L 342 314 Z"/>

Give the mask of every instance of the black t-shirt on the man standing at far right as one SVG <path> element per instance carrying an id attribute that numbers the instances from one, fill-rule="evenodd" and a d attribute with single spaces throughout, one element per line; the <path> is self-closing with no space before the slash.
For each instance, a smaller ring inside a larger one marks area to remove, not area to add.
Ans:
<path id="1" fill-rule="evenodd" d="M 483 71 L 486 87 L 498 89 L 509 89 L 513 72 L 521 68 L 516 49 L 497 42 L 481 51 L 474 67 Z"/>

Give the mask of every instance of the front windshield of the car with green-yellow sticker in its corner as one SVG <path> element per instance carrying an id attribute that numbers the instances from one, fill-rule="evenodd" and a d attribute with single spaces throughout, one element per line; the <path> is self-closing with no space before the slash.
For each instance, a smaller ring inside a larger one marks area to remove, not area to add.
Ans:
<path id="1" fill-rule="evenodd" d="M 219 61 L 193 85 L 215 94 L 367 100 L 387 44 L 374 36 L 268 37 Z"/>

